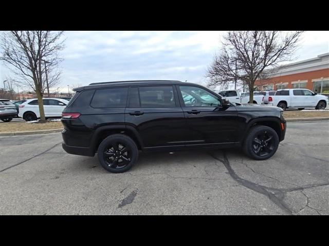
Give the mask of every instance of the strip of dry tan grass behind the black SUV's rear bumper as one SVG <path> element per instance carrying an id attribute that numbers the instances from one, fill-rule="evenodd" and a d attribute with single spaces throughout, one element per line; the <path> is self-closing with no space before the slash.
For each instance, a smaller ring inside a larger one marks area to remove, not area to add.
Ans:
<path id="1" fill-rule="evenodd" d="M 43 124 L 27 122 L 3 122 L 0 124 L 0 132 L 23 132 L 36 130 L 50 130 L 63 128 L 61 121 L 48 121 Z"/>

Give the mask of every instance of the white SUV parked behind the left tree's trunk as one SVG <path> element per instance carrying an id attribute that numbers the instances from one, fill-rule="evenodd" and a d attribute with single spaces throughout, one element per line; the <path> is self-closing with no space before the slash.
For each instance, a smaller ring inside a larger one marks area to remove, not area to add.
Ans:
<path id="1" fill-rule="evenodd" d="M 61 98 L 43 98 L 43 106 L 46 118 L 62 117 L 62 111 L 68 104 L 68 100 Z M 38 99 L 28 99 L 19 106 L 19 117 L 26 121 L 40 118 Z"/>

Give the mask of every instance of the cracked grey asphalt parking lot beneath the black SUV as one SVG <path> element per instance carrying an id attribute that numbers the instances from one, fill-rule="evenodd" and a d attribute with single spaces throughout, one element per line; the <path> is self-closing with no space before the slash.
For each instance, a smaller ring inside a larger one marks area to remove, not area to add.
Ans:
<path id="1" fill-rule="evenodd" d="M 129 172 L 69 155 L 61 134 L 1 137 L 1 215 L 329 215 L 329 121 L 289 122 L 277 153 L 140 154 Z"/>

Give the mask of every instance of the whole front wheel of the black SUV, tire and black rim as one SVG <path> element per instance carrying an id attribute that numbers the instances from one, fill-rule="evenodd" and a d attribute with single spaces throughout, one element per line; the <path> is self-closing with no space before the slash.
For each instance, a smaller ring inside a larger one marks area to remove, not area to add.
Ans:
<path id="1" fill-rule="evenodd" d="M 250 129 L 243 143 L 243 151 L 254 160 L 266 160 L 276 153 L 279 142 L 275 130 L 258 125 Z"/>

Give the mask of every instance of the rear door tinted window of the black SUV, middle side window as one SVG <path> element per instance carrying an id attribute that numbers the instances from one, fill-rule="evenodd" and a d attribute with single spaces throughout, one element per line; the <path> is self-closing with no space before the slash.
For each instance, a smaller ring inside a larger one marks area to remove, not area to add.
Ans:
<path id="1" fill-rule="evenodd" d="M 142 108 L 176 107 L 172 86 L 139 87 Z"/>

